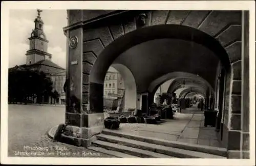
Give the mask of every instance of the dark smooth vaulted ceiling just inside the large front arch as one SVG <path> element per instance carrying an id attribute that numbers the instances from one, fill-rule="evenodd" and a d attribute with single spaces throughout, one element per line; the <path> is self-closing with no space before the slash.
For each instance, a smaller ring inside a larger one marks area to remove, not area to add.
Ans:
<path id="1" fill-rule="evenodd" d="M 151 82 L 171 72 L 199 75 L 214 87 L 218 57 L 203 45 L 180 39 L 156 39 L 121 53 L 114 63 L 131 70 L 137 92 L 146 92 Z"/>

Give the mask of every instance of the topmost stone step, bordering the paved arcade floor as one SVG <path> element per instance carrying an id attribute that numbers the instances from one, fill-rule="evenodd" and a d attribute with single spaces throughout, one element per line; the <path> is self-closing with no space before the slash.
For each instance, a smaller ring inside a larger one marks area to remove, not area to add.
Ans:
<path id="1" fill-rule="evenodd" d="M 165 147 L 173 147 L 173 148 L 179 148 L 184 150 L 203 152 L 203 153 L 208 153 L 208 154 L 213 154 L 213 155 L 218 155 L 223 157 L 227 156 L 227 149 L 225 148 L 188 144 L 188 143 L 182 143 L 177 141 L 167 141 L 167 140 L 157 139 L 155 137 L 143 137 L 139 135 L 133 135 L 130 133 L 125 133 L 125 132 L 120 132 L 118 130 L 110 130 L 110 129 L 104 129 L 102 131 L 102 134 L 123 137 L 125 139 L 131 139 L 131 140 L 136 140 L 136 141 L 146 142 L 146 143 L 151 143 L 156 145 L 162 145 Z"/>

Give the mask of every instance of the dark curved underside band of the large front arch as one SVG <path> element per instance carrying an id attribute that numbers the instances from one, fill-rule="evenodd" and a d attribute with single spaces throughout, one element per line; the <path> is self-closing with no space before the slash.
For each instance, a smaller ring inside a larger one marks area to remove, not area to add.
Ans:
<path id="1" fill-rule="evenodd" d="M 181 39 L 204 45 L 215 53 L 226 70 L 230 68 L 227 52 L 210 35 L 189 26 L 176 24 L 153 25 L 124 34 L 105 47 L 91 68 L 90 82 L 102 84 L 106 70 L 108 70 L 109 66 L 125 50 L 146 41 L 164 38 Z"/>

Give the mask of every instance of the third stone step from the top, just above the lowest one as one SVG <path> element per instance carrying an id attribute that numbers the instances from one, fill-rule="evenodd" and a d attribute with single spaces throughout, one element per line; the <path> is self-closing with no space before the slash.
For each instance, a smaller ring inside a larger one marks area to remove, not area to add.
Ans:
<path id="1" fill-rule="evenodd" d="M 113 150 L 121 153 L 142 157 L 142 158 L 175 158 L 175 157 L 160 154 L 160 153 L 155 153 L 147 150 L 127 147 L 127 146 L 118 145 L 118 144 L 113 144 L 113 143 L 104 142 L 100 140 L 93 142 L 93 145 L 107 149 L 107 150 Z"/>

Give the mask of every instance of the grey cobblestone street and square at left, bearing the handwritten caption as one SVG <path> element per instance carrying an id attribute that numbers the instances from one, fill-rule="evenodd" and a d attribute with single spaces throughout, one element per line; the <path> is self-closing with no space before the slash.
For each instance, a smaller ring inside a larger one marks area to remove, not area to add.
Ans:
<path id="1" fill-rule="evenodd" d="M 27 157 L 112 157 L 83 147 L 52 142 L 47 131 L 65 122 L 65 107 L 9 105 L 8 155 Z"/>

